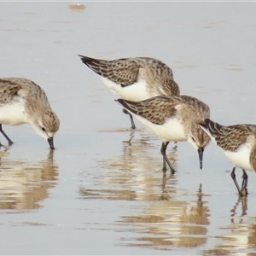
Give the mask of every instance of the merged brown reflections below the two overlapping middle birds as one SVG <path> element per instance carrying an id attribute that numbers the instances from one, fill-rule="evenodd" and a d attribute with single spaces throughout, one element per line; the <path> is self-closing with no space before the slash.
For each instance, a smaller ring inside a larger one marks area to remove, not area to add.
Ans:
<path id="1" fill-rule="evenodd" d="M 123 216 L 111 224 L 114 230 L 132 234 L 131 238 L 122 238 L 119 245 L 166 250 L 199 247 L 207 241 L 209 210 L 207 202 L 203 201 L 206 195 L 202 193 L 201 185 L 195 201 L 187 201 L 187 196 L 195 198 L 195 195 L 187 195 L 185 189 L 177 191 L 177 178 L 170 172 L 163 174 L 161 155 L 155 154 L 153 140 L 153 137 L 131 131 L 130 139 L 123 142 L 120 155 L 99 162 L 103 172 L 97 177 L 94 172 L 93 184 L 79 189 L 81 198 L 119 200 L 122 203 L 147 201 L 132 204 L 132 212 L 141 213 Z M 174 144 L 168 155 L 174 166 L 176 151 Z M 94 228 L 101 230 L 102 225 L 94 225 Z"/>

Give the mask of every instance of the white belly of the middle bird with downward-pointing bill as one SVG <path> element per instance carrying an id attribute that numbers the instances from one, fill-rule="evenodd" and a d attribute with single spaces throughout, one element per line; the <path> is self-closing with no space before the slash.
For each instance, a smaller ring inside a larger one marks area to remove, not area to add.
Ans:
<path id="1" fill-rule="evenodd" d="M 134 115 L 143 125 L 145 125 L 149 131 L 160 137 L 164 142 L 175 141 L 183 142 L 187 141 L 187 137 L 184 132 L 184 127 L 177 119 L 169 119 L 164 125 L 155 125 L 140 116 Z"/>

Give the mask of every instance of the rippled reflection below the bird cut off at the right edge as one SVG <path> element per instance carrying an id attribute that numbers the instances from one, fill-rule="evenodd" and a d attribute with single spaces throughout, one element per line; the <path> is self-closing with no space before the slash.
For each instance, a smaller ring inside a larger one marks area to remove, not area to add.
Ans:
<path id="1" fill-rule="evenodd" d="M 214 255 L 256 255 L 256 218 L 247 218 L 247 197 L 238 197 L 231 209 L 230 224 L 220 227 L 229 233 L 217 238 L 220 242 L 205 254 Z"/>

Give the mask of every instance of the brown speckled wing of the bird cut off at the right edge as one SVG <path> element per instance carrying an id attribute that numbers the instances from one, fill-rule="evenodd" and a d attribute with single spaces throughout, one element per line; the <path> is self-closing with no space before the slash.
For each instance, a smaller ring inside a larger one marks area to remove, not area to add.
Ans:
<path id="1" fill-rule="evenodd" d="M 209 119 L 206 120 L 206 125 L 212 137 L 215 137 L 217 145 L 224 150 L 236 151 L 242 143 L 247 141 L 249 135 L 253 135 L 253 125 L 224 126 Z"/>

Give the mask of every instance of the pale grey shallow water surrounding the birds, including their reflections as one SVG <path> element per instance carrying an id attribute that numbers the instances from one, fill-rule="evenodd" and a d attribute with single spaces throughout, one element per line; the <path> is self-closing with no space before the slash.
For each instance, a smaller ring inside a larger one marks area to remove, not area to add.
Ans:
<path id="1" fill-rule="evenodd" d="M 54 152 L 30 125 L 4 126 L 1 253 L 256 254 L 255 174 L 239 199 L 212 143 L 202 170 L 194 148 L 170 143 L 177 172 L 163 177 L 160 139 L 131 131 L 77 56 L 158 58 L 212 119 L 255 124 L 256 3 L 84 5 L 0 3 L 2 77 L 40 84 L 61 119 Z"/>

